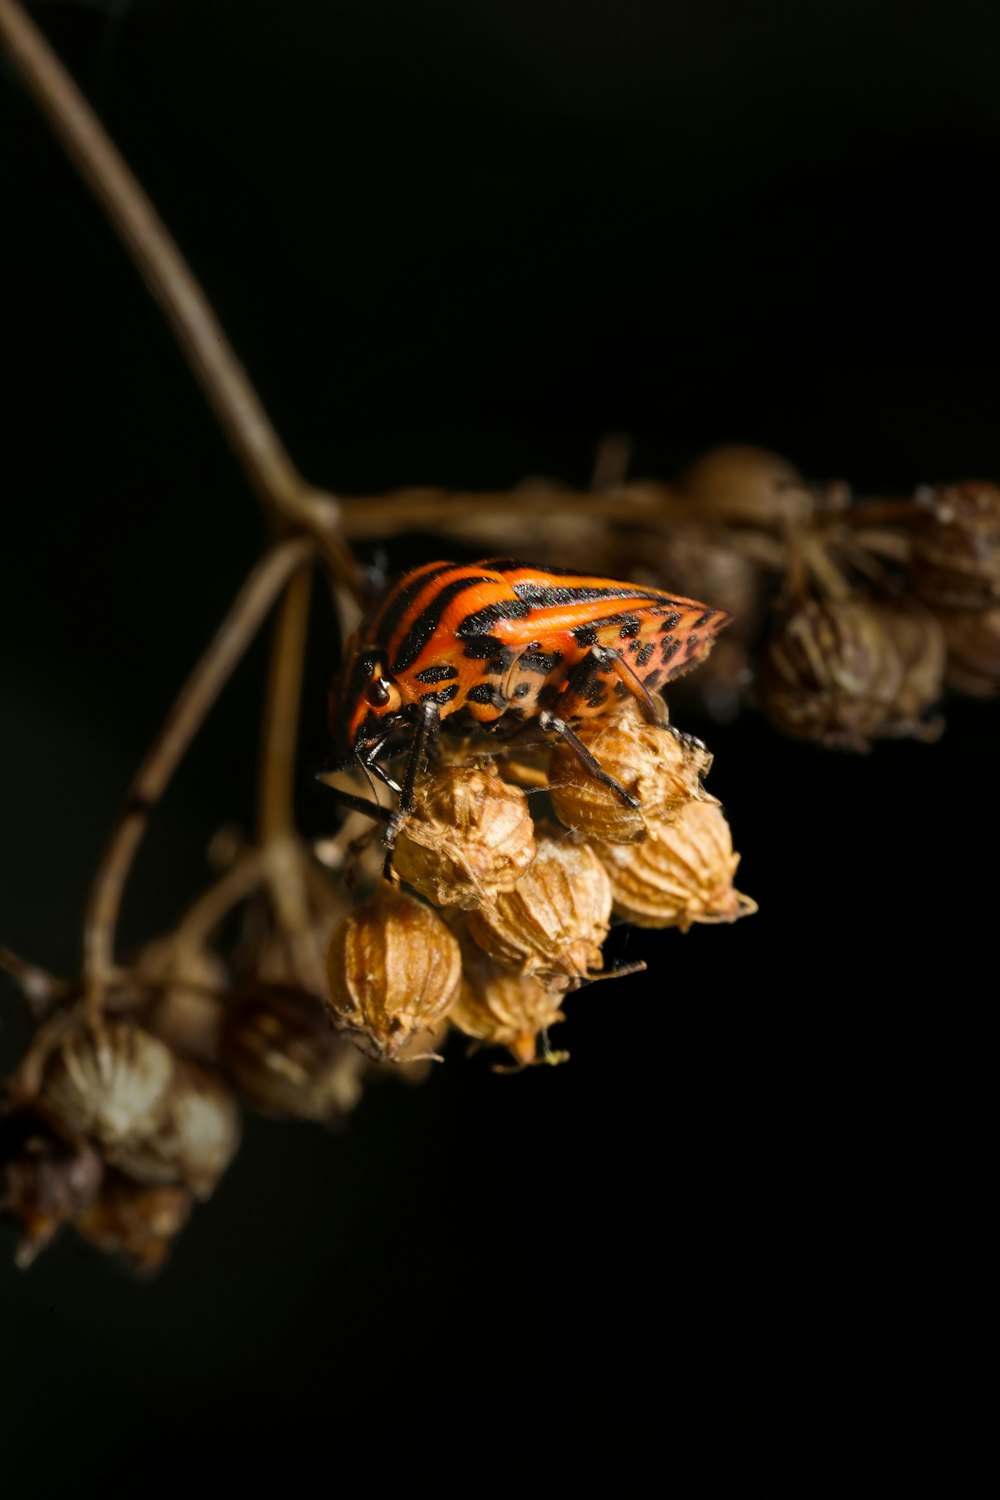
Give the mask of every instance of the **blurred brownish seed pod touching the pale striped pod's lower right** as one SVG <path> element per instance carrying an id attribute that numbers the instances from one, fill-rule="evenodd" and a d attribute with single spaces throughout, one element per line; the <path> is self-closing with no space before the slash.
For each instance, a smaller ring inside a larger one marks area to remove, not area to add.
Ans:
<path id="1" fill-rule="evenodd" d="M 135 1182 L 180 1182 L 208 1198 L 240 1146 L 235 1095 L 208 1068 L 178 1062 L 163 1119 L 147 1136 L 108 1146 L 108 1161 Z"/>

